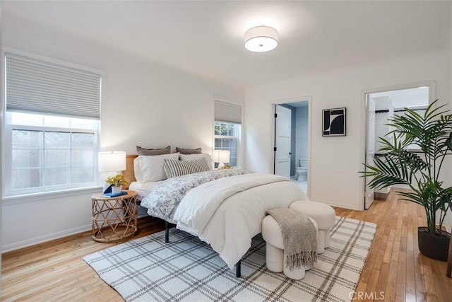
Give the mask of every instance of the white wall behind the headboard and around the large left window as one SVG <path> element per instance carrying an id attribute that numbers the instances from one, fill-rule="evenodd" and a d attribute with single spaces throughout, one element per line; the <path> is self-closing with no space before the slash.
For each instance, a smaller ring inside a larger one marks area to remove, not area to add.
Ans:
<path id="1" fill-rule="evenodd" d="M 136 154 L 136 145 L 172 145 L 211 153 L 213 100 L 244 103 L 227 86 L 36 24 L 4 24 L 4 45 L 106 72 L 102 79 L 101 147 Z M 7 176 L 7 175 L 6 175 Z M 92 192 L 2 202 L 2 250 L 88 230 Z"/>

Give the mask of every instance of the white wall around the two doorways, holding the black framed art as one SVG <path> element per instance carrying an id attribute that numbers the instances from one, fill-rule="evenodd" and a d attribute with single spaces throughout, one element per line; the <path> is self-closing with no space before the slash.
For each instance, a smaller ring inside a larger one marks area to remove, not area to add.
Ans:
<path id="1" fill-rule="evenodd" d="M 271 171 L 271 104 L 276 100 L 309 95 L 311 101 L 310 198 L 328 204 L 362 209 L 364 154 L 364 91 L 418 81 L 436 81 L 436 97 L 451 98 L 451 51 L 332 70 L 325 74 L 288 79 L 246 90 L 246 168 Z M 347 108 L 347 136 L 321 136 L 321 110 Z M 451 167 L 452 168 L 452 167 Z M 451 169 L 449 169 L 451 170 Z M 450 175 L 445 175 L 450 181 Z"/>

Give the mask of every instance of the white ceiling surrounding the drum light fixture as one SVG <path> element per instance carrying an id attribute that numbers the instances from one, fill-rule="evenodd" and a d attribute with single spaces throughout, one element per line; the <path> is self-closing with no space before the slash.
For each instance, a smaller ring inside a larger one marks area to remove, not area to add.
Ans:
<path id="1" fill-rule="evenodd" d="M 376 62 L 451 43 L 450 1 L 2 1 L 4 41 L 40 24 L 236 86 Z M 245 50 L 256 25 L 275 50 Z M 20 28 L 23 26 L 23 28 Z"/>

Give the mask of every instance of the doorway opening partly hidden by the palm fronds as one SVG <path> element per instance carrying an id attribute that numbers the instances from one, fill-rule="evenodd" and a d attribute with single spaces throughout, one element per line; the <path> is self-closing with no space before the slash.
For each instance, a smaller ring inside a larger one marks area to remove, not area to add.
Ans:
<path id="1" fill-rule="evenodd" d="M 432 101 L 433 85 L 416 85 L 410 88 L 400 88 L 375 93 L 365 93 L 366 104 L 366 137 L 364 162 L 373 165 L 374 157 L 381 156 L 381 140 L 393 141 L 393 137 L 386 136 L 392 130 L 388 120 L 393 116 L 405 115 L 405 108 L 417 111 L 423 115 Z M 409 148 L 411 150 L 411 147 Z M 415 150 L 413 146 L 412 151 Z M 386 200 L 390 187 L 371 189 L 370 178 L 364 178 L 364 209 L 369 209 L 374 199 Z M 401 187 L 402 186 L 397 186 Z"/>

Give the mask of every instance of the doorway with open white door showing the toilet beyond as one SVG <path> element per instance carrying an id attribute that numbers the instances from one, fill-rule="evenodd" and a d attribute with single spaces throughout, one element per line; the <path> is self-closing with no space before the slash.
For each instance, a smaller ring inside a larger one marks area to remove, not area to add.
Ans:
<path id="1" fill-rule="evenodd" d="M 309 191 L 309 100 L 273 104 L 273 172 Z"/>

